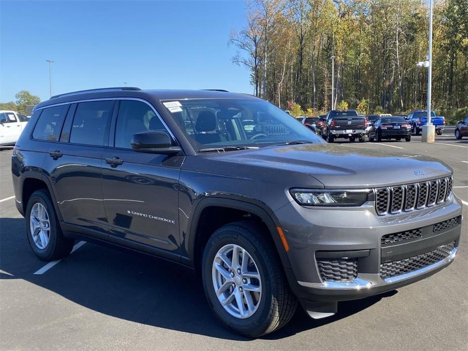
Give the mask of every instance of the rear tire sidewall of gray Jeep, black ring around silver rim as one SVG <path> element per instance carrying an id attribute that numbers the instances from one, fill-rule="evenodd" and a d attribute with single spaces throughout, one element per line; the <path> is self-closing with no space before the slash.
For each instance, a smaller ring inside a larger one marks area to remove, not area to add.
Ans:
<path id="1" fill-rule="evenodd" d="M 45 249 L 39 249 L 36 244 L 34 244 L 34 241 L 32 239 L 32 234 L 29 226 L 29 218 L 31 216 L 31 209 L 32 206 L 36 203 L 42 204 L 49 215 L 49 225 L 50 225 L 50 237 L 49 237 L 49 243 L 47 244 Z M 29 241 L 29 246 L 31 246 L 32 251 L 37 255 L 42 260 L 50 260 L 55 252 L 55 246 L 57 244 L 57 226 L 58 226 L 58 221 L 57 217 L 55 215 L 55 209 L 52 205 L 51 200 L 49 197 L 42 191 L 36 191 L 31 195 L 29 198 L 28 204 L 26 206 L 26 235 L 28 237 Z"/>

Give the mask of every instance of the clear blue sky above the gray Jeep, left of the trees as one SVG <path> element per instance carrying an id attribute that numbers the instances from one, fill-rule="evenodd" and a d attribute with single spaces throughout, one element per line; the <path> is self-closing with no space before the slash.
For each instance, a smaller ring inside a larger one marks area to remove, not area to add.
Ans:
<path id="1" fill-rule="evenodd" d="M 93 87 L 227 89 L 251 93 L 231 62 L 243 1 L 0 0 L 0 102 L 28 90 L 41 100 Z"/>

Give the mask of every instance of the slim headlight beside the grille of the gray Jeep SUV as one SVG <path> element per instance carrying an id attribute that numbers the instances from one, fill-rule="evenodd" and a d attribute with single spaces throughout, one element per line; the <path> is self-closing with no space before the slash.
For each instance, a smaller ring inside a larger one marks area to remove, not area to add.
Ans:
<path id="1" fill-rule="evenodd" d="M 309 190 L 291 189 L 290 193 L 297 203 L 303 206 L 362 206 L 372 191 L 362 190 Z"/>

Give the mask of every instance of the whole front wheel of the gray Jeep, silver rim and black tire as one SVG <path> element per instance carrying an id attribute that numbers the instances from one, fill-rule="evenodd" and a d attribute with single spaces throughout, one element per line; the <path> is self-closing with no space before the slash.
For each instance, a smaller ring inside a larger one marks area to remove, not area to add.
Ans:
<path id="1" fill-rule="evenodd" d="M 257 223 L 235 222 L 218 229 L 203 253 L 211 310 L 226 327 L 250 337 L 281 328 L 297 306 L 267 235 Z"/>

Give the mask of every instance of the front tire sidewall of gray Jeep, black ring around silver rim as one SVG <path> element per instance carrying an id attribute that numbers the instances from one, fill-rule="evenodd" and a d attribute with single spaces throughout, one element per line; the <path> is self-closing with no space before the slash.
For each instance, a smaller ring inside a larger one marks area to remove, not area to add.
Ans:
<path id="1" fill-rule="evenodd" d="M 216 296 L 215 289 L 212 283 L 212 263 L 220 248 L 225 245 L 236 244 L 247 250 L 250 256 L 257 264 L 261 276 L 262 297 L 257 311 L 248 318 L 238 319 L 231 316 L 221 305 Z M 202 262 L 202 278 L 203 288 L 207 297 L 211 310 L 215 313 L 218 319 L 231 328 L 235 332 L 248 334 L 262 334 L 267 329 L 270 323 L 270 314 L 272 310 L 272 283 L 271 274 L 268 271 L 269 267 L 263 253 L 260 252 L 254 244 L 244 237 L 241 233 L 224 229 L 217 232 L 209 241 L 207 248 L 203 254 Z M 268 279 L 267 279 L 268 277 Z"/>

